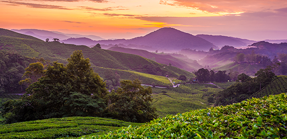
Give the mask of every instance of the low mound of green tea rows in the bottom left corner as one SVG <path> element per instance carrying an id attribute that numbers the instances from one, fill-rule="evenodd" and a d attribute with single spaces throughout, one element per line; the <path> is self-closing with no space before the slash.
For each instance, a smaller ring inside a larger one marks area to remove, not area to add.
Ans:
<path id="1" fill-rule="evenodd" d="M 0 138 L 74 138 L 140 125 L 98 117 L 64 117 L 0 125 Z"/>

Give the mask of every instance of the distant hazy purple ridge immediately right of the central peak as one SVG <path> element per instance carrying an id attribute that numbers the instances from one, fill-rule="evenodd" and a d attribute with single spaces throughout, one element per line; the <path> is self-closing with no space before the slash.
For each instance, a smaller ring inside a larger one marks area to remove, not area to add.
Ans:
<path id="1" fill-rule="evenodd" d="M 242 46 L 248 46 L 252 43 L 255 43 L 256 41 L 251 41 L 247 39 L 240 39 L 240 38 L 234 38 L 234 37 L 228 37 L 228 36 L 221 36 L 221 35 L 204 35 L 199 34 L 196 35 L 197 37 L 200 37 L 218 47 L 223 47 L 226 45 L 233 46 L 233 47 L 242 47 Z"/>

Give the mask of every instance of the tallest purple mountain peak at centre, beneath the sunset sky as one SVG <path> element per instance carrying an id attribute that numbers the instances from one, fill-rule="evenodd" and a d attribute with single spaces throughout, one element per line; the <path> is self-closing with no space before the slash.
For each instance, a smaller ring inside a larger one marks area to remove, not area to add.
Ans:
<path id="1" fill-rule="evenodd" d="M 214 47 L 210 42 L 174 28 L 161 28 L 146 36 L 133 38 L 123 44 L 147 45 L 157 49 L 181 50 L 184 48 L 207 51 Z"/>

